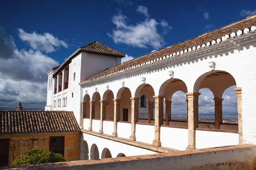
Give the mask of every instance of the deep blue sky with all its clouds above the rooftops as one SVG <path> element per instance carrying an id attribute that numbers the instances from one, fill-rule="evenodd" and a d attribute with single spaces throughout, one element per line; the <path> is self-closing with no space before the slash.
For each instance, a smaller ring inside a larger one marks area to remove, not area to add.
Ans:
<path id="1" fill-rule="evenodd" d="M 19 56 L 2 57 L 2 65 L 11 59 L 27 64 L 0 69 L 0 105 L 14 107 L 21 98 L 30 108 L 44 108 L 45 73 L 93 40 L 131 59 L 240 20 L 256 13 L 255 6 L 253 0 L 0 1 L 0 52 Z"/>

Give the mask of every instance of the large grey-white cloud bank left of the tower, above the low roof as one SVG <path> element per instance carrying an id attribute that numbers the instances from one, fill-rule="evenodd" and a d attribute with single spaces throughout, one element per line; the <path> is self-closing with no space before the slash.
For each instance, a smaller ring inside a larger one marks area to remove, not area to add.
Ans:
<path id="1" fill-rule="evenodd" d="M 12 37 L 3 30 L 2 27 L 0 42 L 8 40 L 12 45 L 7 49 L 5 44 L 0 43 L 1 53 L 9 53 L 8 59 L 0 57 L 0 106 L 15 109 L 21 99 L 25 109 L 44 109 L 46 72 L 59 63 L 41 51 L 17 49 Z"/>

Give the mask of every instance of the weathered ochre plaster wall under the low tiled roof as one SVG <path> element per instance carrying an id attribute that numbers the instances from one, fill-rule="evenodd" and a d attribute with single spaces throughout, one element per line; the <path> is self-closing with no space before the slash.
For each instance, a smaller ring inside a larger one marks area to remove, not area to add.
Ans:
<path id="1" fill-rule="evenodd" d="M 48 133 L 48 134 L 20 134 L 1 135 L 0 139 L 10 139 L 9 164 L 23 151 L 31 150 L 38 146 L 40 149 L 49 150 L 50 136 L 64 137 L 64 157 L 67 161 L 80 160 L 80 132 L 79 133 Z"/>

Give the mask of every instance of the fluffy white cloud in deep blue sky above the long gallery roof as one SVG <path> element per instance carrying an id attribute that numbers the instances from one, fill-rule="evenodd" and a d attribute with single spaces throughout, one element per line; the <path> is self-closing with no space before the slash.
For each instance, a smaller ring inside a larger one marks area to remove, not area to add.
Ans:
<path id="1" fill-rule="evenodd" d="M 147 48 L 148 46 L 156 49 L 161 48 L 165 44 L 165 41 L 157 30 L 157 27 L 160 27 L 165 33 L 171 29 L 165 20 L 157 22 L 155 19 L 148 18 L 135 25 L 129 25 L 127 23 L 127 17 L 121 11 L 118 11 L 118 14 L 113 16 L 112 22 L 116 28 L 112 34 L 108 33 L 108 36 L 115 43 L 124 43 L 140 48 Z"/>

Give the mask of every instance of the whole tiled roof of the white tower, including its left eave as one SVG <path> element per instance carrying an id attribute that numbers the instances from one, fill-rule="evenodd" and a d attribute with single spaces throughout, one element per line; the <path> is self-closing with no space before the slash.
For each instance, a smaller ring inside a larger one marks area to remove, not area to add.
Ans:
<path id="1" fill-rule="evenodd" d="M 125 57 L 125 54 L 121 53 L 120 51 L 117 51 L 113 48 L 110 48 L 109 46 L 102 44 L 98 41 L 90 42 L 87 45 L 82 46 L 81 48 L 78 48 L 73 54 L 70 55 L 55 71 L 53 74 L 53 77 L 56 77 L 61 70 L 63 70 L 67 65 L 70 64 L 71 60 L 76 57 L 77 54 L 79 54 L 81 51 L 87 52 L 87 53 L 93 53 L 93 54 L 101 54 L 106 56 L 112 56 L 112 57 Z"/>

